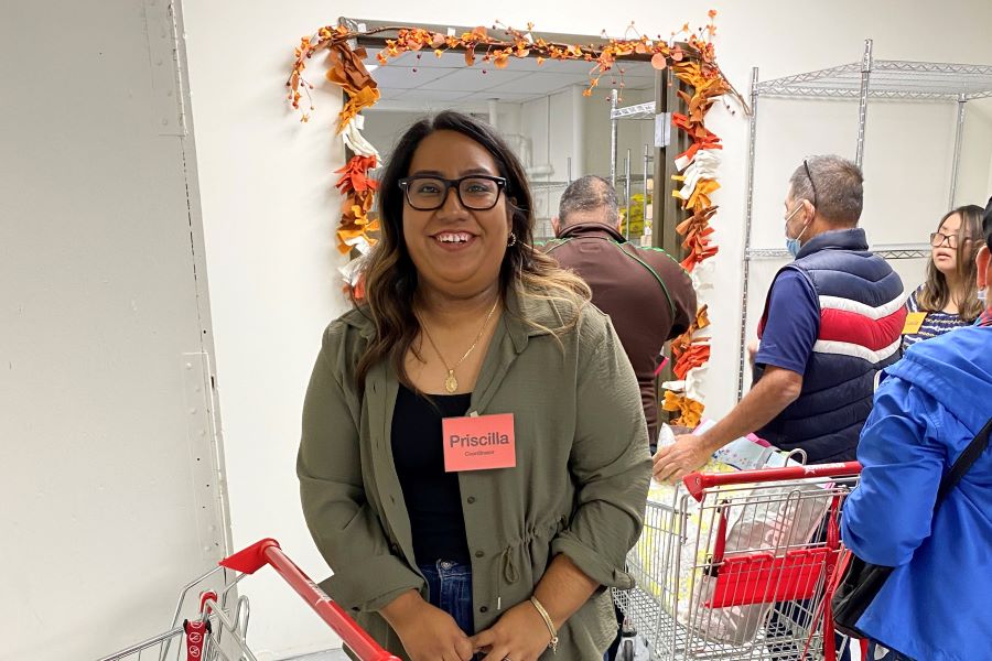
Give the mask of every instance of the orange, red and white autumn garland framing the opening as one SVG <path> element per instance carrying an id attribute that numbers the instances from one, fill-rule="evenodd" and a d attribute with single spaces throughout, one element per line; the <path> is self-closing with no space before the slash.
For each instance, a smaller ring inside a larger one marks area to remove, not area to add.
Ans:
<path id="1" fill-rule="evenodd" d="M 678 93 L 687 104 L 688 113 L 675 113 L 672 119 L 672 123 L 686 131 L 692 140 L 689 150 L 677 160 L 682 174 L 675 178 L 682 182 L 682 187 L 673 194 L 682 201 L 682 208 L 692 214 L 678 226 L 678 232 L 684 238 L 682 247 L 688 251 L 682 266 L 693 274 L 697 288 L 703 286 L 693 271 L 698 264 L 716 253 L 716 247 L 710 240 L 713 230 L 709 225 L 716 207 L 711 204 L 709 196 L 719 188 L 715 178 L 719 158 L 715 150 L 721 149 L 720 139 L 705 128 L 704 119 L 715 98 L 722 95 L 731 94 L 742 105 L 744 104 L 715 62 L 711 41 L 716 32 L 713 23 L 715 15 L 716 12 L 711 10 L 710 22 L 705 28 L 693 33 L 687 23 L 681 31 L 671 33 L 671 39 L 667 41 L 660 35 L 654 40 L 646 35 L 637 35 L 635 39 L 610 39 L 602 45 L 546 41 L 533 35 L 533 25 L 530 23 L 526 31 L 500 24 L 494 25 L 493 30 L 502 31 L 505 37 L 494 36 L 485 28 L 475 28 L 459 35 L 451 30 L 448 34 L 442 34 L 414 26 L 356 31 L 343 25 L 321 28 L 313 36 L 303 37 L 295 50 L 293 71 L 287 80 L 289 100 L 294 109 L 300 110 L 304 95 L 310 100 L 309 110 L 301 111 L 301 121 L 309 121 L 310 112 L 314 109 L 310 98 L 313 85 L 304 79 L 303 72 L 308 61 L 316 53 L 327 51 L 326 77 L 347 96 L 347 101 L 338 115 L 337 134 L 342 137 L 353 156 L 344 167 L 336 171 L 341 174 L 336 186 L 345 197 L 337 228 L 338 250 L 342 253 L 349 253 L 353 250 L 362 254 L 367 253 L 376 242 L 371 232 L 379 229 L 378 219 L 371 214 L 378 183 L 368 175 L 369 171 L 377 166 L 379 153 L 362 136 L 363 117 L 359 115 L 362 110 L 370 108 L 378 101 L 379 90 L 363 63 L 367 53 L 364 48 L 353 50 L 349 45 L 353 40 L 395 32 L 396 39 L 386 40 L 386 46 L 377 55 L 381 64 L 387 64 L 389 59 L 408 52 L 416 52 L 417 57 L 421 57 L 422 51 L 432 51 L 435 56 L 441 57 L 451 50 L 464 52 L 466 66 L 473 66 L 481 59 L 484 64 L 504 68 L 510 57 L 536 57 L 538 65 L 542 65 L 547 59 L 585 61 L 590 63 L 590 83 L 583 93 L 585 96 L 592 96 L 600 78 L 614 68 L 618 69 L 618 86 L 623 88 L 623 68 L 617 66 L 617 61 L 650 55 L 651 65 L 656 69 L 670 66 L 676 77 L 693 90 L 691 95 L 681 90 Z M 630 31 L 636 33 L 633 23 L 627 33 Z M 677 39 L 686 40 L 684 48 L 676 43 Z M 343 268 L 342 274 L 347 288 L 360 288 L 357 259 Z M 360 297 L 360 291 L 355 293 Z M 681 392 L 672 390 L 666 392 L 662 407 L 679 412 L 679 416 L 673 421 L 677 424 L 694 426 L 702 414 L 703 404 L 693 376 L 698 375 L 699 369 L 709 360 L 709 338 L 698 337 L 698 332 L 708 325 L 707 311 L 702 307 L 692 328 L 672 343 L 672 353 L 676 357 L 675 372 L 683 387 Z"/>

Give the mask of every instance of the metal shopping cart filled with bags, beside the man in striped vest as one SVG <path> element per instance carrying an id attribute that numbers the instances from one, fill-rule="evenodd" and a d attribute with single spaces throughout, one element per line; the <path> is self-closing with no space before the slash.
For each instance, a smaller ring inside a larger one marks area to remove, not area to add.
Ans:
<path id="1" fill-rule="evenodd" d="M 649 499 L 628 553 L 637 587 L 615 592 L 622 661 L 834 661 L 830 597 L 839 517 L 856 462 L 684 478 Z M 653 490 L 654 492 L 654 490 Z"/>

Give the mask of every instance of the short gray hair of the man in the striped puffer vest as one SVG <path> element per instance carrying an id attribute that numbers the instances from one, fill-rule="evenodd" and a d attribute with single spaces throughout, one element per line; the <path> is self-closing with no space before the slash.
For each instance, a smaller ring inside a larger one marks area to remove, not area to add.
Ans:
<path id="1" fill-rule="evenodd" d="M 863 184 L 861 169 L 834 154 L 806 159 L 789 178 L 794 199 L 808 199 L 823 218 L 848 227 L 861 218 Z"/>

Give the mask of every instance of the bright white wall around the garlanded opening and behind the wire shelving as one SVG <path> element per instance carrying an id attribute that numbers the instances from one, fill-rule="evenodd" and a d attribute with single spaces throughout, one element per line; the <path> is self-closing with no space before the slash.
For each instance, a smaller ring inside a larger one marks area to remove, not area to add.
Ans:
<path id="1" fill-rule="evenodd" d="M 604 28 L 621 34 L 635 19 L 640 29 L 667 33 L 687 20 L 703 23 L 713 7 L 720 12 L 722 66 L 745 95 L 753 65 L 769 78 L 854 62 L 865 36 L 875 39 L 878 57 L 992 63 L 986 34 L 992 4 L 983 1 L 714 0 L 692 8 L 628 2 L 608 12 L 593 0 L 573 2 L 568 11 L 562 3 L 519 0 L 498 8 L 421 3 L 416 10 L 397 0 L 345 0 L 333 7 L 315 0 L 186 0 L 185 7 L 234 539 L 244 544 L 278 537 L 315 578 L 325 575 L 325 567 L 302 523 L 293 458 L 320 333 L 345 310 L 335 273 L 343 260 L 334 249 L 338 203 L 331 175 L 343 154 L 333 140 L 337 102 L 325 91 L 319 61 L 311 76 L 321 85 L 313 120 L 300 124 L 281 100 L 301 35 L 336 22 L 341 14 L 462 25 L 490 24 L 498 18 L 513 25 L 533 21 L 538 30 L 586 34 Z M 596 105 L 602 100 L 589 102 L 590 112 L 605 113 Z M 936 109 L 909 110 L 912 126 L 899 117 L 895 109 L 870 109 L 865 218 L 873 236 L 918 240 L 945 204 L 950 122 L 934 123 L 945 121 Z M 763 228 L 762 241 L 777 247 L 788 170 L 810 152 L 852 153 L 853 115 L 847 106 L 831 104 L 776 113 L 768 104 L 762 120 L 756 224 Z M 988 115 L 982 121 L 988 123 Z M 720 284 L 707 296 L 715 323 L 707 389 L 711 412 L 721 413 L 733 401 L 736 383 L 747 126 L 740 110 L 732 116 L 718 104 L 712 127 L 724 139 L 725 158 L 723 188 L 715 197 L 721 213 L 714 221 Z M 595 155 L 608 149 L 608 133 L 589 136 L 595 144 L 586 151 L 587 171 L 596 169 Z M 923 141 L 916 144 L 918 137 Z M 981 151 L 969 159 L 980 172 L 962 173 L 962 180 L 982 183 L 962 182 L 962 195 L 978 194 L 989 181 Z M 912 231 L 903 237 L 901 226 Z M 257 648 L 303 650 L 330 642 L 312 618 L 300 615 L 295 598 L 278 586 L 252 578 L 246 592 L 258 595 L 252 617 Z"/>

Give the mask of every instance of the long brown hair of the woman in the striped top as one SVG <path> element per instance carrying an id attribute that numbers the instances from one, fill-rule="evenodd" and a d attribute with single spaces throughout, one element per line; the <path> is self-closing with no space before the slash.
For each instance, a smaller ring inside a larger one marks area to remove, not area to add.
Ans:
<path id="1" fill-rule="evenodd" d="M 978 300 L 978 284 L 975 274 L 978 267 L 974 258 L 981 249 L 982 214 L 984 209 L 978 205 L 969 204 L 949 210 L 937 224 L 937 231 L 944 226 L 944 221 L 958 214 L 961 216 L 961 226 L 958 228 L 957 266 L 958 284 L 960 291 L 952 292 L 948 286 L 947 278 L 934 263 L 934 256 L 927 261 L 927 281 L 917 295 L 919 308 L 926 312 L 944 310 L 950 301 L 958 305 L 958 316 L 966 322 L 973 322 L 982 313 L 982 304 Z"/>

